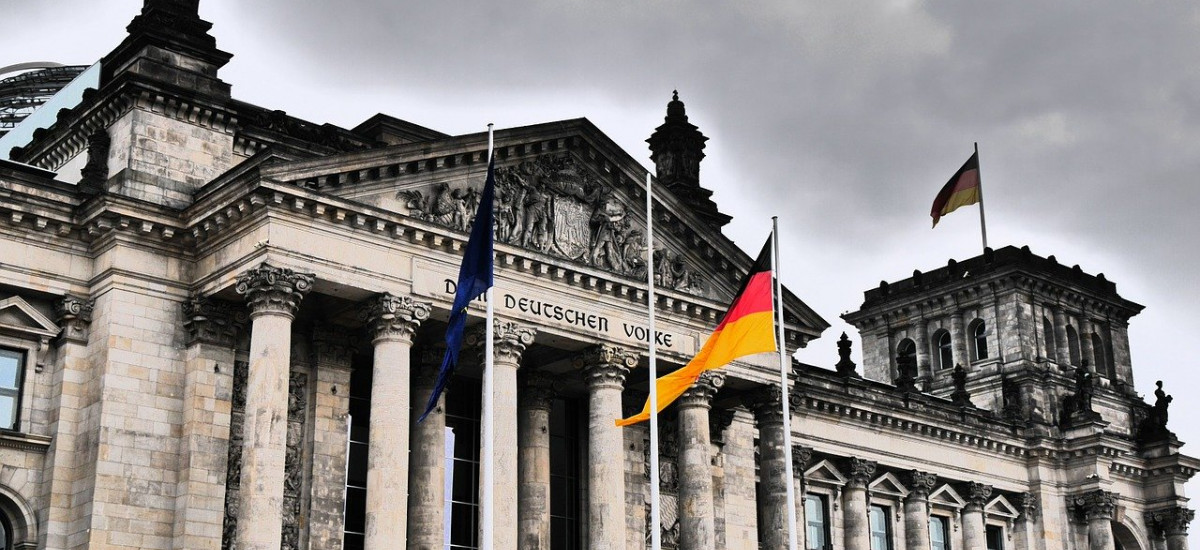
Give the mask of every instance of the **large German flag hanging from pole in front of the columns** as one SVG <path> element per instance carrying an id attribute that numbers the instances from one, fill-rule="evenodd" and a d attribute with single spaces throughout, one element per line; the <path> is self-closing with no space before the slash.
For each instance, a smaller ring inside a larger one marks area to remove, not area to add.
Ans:
<path id="1" fill-rule="evenodd" d="M 700 353 L 679 370 L 660 376 L 655 382 L 660 412 L 696 383 L 702 372 L 720 369 L 739 357 L 776 349 L 772 275 L 770 239 L 767 239 L 754 268 L 742 281 L 737 298 Z M 617 420 L 617 425 L 628 426 L 649 418 L 650 401 L 647 400 L 642 412 Z"/>

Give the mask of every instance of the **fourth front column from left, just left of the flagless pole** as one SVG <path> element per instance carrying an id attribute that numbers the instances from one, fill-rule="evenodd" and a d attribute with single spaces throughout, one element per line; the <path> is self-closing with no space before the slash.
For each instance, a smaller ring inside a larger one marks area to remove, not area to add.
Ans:
<path id="1" fill-rule="evenodd" d="M 637 366 L 637 354 L 599 345 L 581 357 L 588 387 L 588 545 L 596 550 L 625 548 L 624 434 L 620 391 L 625 376 Z"/>

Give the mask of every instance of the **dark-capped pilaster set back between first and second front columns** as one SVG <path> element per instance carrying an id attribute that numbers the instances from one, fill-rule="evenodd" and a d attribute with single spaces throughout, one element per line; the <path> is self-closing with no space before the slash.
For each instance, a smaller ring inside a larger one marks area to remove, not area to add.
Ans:
<path id="1" fill-rule="evenodd" d="M 346 525 L 346 450 L 350 414 L 353 340 L 344 330 L 318 325 L 312 334 L 317 377 L 312 430 L 308 546 L 341 548 Z"/>

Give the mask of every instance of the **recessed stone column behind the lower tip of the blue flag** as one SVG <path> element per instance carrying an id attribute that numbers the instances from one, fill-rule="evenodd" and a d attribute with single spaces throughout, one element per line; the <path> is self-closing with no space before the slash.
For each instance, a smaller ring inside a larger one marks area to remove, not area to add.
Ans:
<path id="1" fill-rule="evenodd" d="M 408 462 L 408 550 L 442 550 L 445 548 L 445 477 L 446 477 L 446 411 L 445 394 L 425 412 L 425 403 L 433 393 L 442 367 L 445 346 L 432 346 L 421 352 L 421 363 L 413 378 L 413 401 L 418 412 L 410 418 Z"/>

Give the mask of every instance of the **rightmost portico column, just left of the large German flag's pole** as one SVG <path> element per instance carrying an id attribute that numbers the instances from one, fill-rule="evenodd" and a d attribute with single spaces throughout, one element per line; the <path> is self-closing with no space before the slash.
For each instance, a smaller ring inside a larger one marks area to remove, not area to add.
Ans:
<path id="1" fill-rule="evenodd" d="M 784 447 L 782 391 L 768 385 L 748 395 L 745 405 L 758 424 L 760 548 L 782 550 L 787 548 L 787 484 L 793 483 L 786 476 L 785 461 L 792 460 L 792 453 Z"/>

